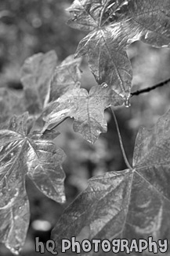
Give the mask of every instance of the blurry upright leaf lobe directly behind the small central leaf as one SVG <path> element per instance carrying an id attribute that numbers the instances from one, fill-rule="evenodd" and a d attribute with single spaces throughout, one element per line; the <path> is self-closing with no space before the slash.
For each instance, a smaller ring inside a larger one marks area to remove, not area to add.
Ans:
<path id="1" fill-rule="evenodd" d="M 74 59 L 74 55 L 70 55 L 56 67 L 46 102 L 55 101 L 67 91 L 74 89 L 75 84 L 81 80 L 80 65 L 81 58 Z"/>

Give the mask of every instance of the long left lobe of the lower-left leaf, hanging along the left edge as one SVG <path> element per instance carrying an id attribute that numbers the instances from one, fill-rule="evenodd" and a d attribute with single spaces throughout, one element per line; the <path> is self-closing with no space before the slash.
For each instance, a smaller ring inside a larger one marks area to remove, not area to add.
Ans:
<path id="1" fill-rule="evenodd" d="M 0 137 L 2 139 L 2 133 L 0 133 Z M 14 142 L 11 143 L 15 145 Z M 13 149 L 8 150 L 8 153 L 6 150 L 4 151 L 5 153 L 2 154 L 1 150 L 0 157 L 0 241 L 5 243 L 5 246 L 13 254 L 19 254 L 20 247 L 24 246 L 30 222 L 30 210 L 24 179 L 25 166 L 20 154 L 20 140 L 16 147 L 13 146 Z M 13 154 L 17 155 L 13 157 Z M 4 167 L 2 166 L 4 165 L 2 158 L 7 160 Z M 16 161 L 14 158 L 16 158 Z"/>

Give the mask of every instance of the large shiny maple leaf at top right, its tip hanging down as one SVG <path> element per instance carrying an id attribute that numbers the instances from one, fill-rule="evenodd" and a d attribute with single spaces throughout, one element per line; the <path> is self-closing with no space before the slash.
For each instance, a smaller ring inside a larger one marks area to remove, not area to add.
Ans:
<path id="1" fill-rule="evenodd" d="M 125 100 L 132 83 L 128 45 L 142 40 L 152 46 L 170 46 L 168 0 L 74 0 L 68 11 L 73 16 L 68 20 L 72 28 L 90 32 L 75 56 L 87 54 L 96 81 L 107 83 Z"/>

